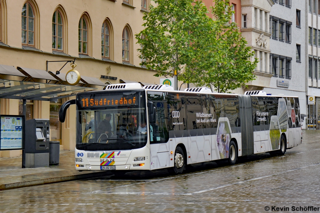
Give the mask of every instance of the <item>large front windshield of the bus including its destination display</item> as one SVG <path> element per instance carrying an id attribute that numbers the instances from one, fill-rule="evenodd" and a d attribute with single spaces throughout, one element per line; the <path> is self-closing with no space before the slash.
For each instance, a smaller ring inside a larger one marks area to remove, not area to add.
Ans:
<path id="1" fill-rule="evenodd" d="M 80 150 L 128 150 L 147 144 L 143 91 L 77 95 L 77 141 Z"/>

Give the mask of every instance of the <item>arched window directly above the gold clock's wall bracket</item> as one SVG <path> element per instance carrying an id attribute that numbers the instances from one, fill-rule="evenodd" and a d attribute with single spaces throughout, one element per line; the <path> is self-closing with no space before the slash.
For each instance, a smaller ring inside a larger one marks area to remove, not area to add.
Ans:
<path id="1" fill-rule="evenodd" d="M 63 20 L 59 10 L 52 16 L 52 49 L 63 50 Z"/>

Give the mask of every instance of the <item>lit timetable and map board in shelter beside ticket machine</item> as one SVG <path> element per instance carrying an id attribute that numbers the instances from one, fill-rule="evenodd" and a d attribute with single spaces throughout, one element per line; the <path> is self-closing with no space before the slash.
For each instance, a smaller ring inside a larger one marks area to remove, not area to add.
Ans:
<path id="1" fill-rule="evenodd" d="M 1 116 L 0 149 L 22 149 L 22 117 Z"/>

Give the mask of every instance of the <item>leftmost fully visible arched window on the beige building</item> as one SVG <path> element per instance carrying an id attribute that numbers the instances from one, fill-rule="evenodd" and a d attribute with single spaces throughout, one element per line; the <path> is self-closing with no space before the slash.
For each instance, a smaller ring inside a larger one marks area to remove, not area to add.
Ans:
<path id="1" fill-rule="evenodd" d="M 22 44 L 34 46 L 35 40 L 35 16 L 32 5 L 29 2 L 22 7 Z"/>

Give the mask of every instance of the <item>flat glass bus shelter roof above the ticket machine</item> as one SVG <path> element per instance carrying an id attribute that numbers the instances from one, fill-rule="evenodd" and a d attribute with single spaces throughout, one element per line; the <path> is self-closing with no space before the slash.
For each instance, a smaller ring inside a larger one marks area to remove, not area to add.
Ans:
<path id="1" fill-rule="evenodd" d="M 49 73 L 48 73 L 49 74 Z M 50 74 L 49 74 L 50 75 Z M 0 79 L 0 98 L 53 101 L 76 95 L 78 92 L 97 90 L 61 84 Z"/>

